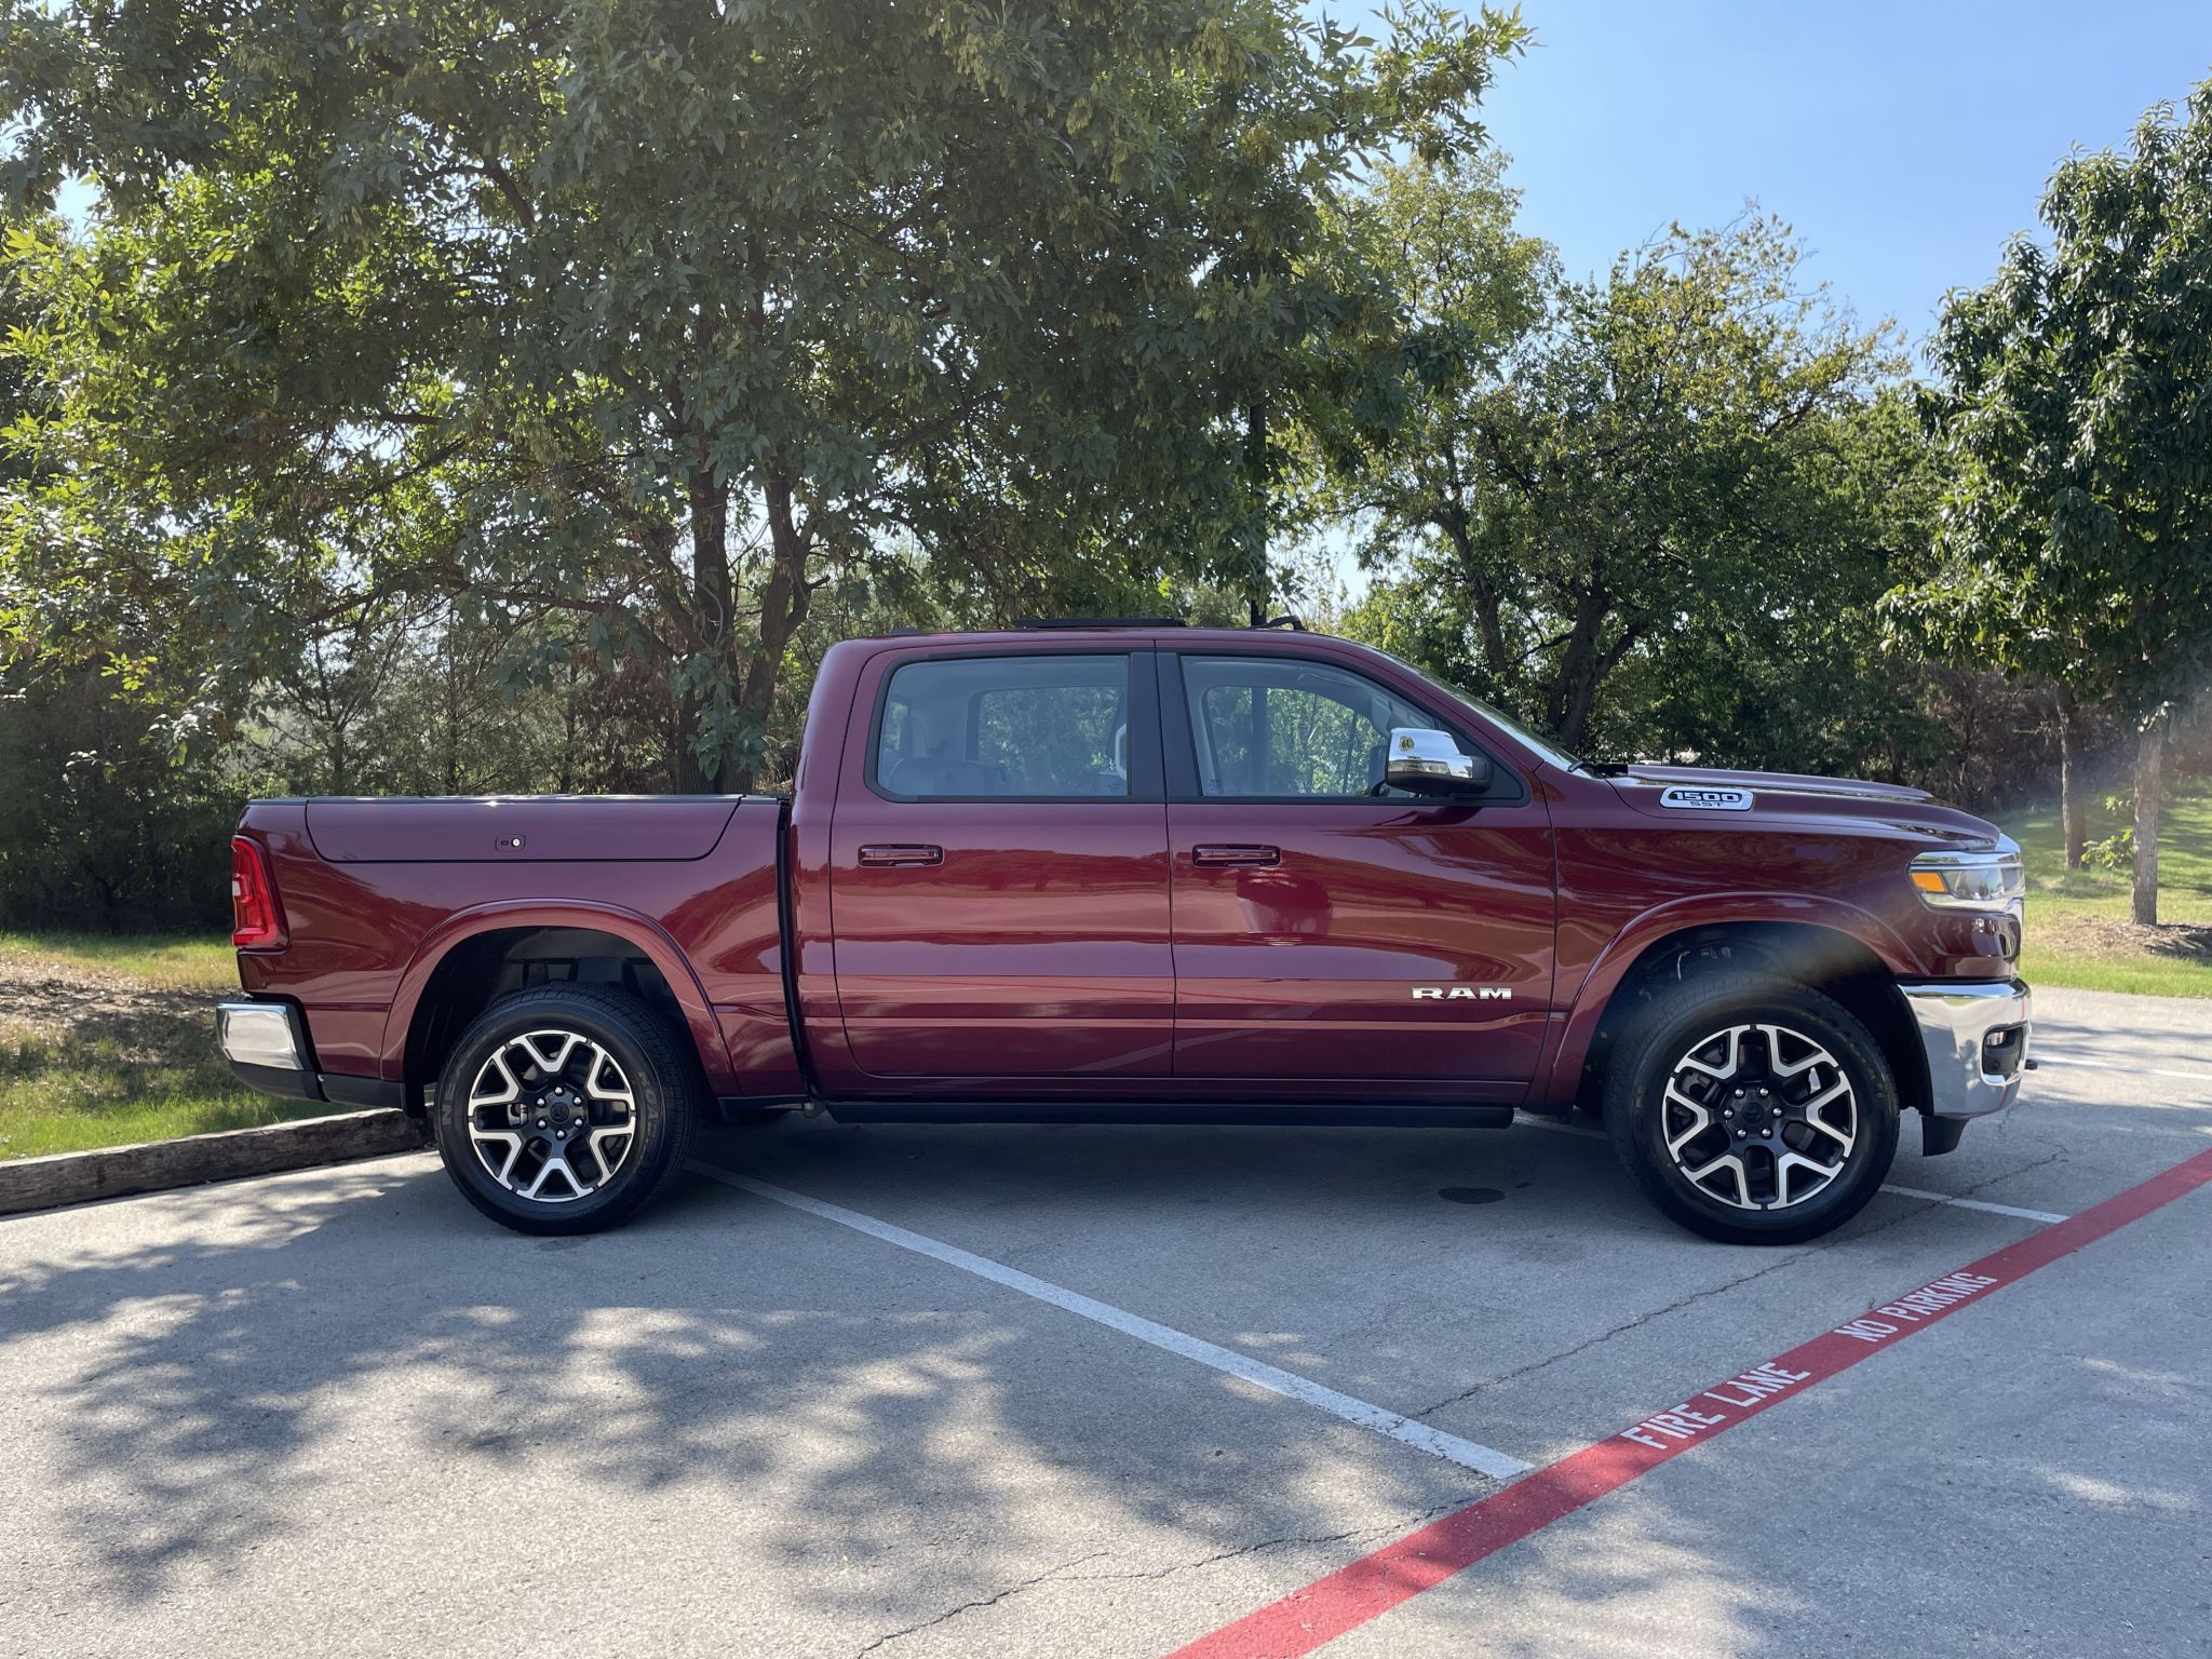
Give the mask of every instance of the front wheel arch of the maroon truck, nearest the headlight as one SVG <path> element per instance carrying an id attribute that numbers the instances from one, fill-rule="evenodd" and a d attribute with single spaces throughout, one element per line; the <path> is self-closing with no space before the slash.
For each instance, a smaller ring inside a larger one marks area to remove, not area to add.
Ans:
<path id="1" fill-rule="evenodd" d="M 1874 1035 L 1898 1084 L 1898 1104 L 1927 1110 L 1929 1071 L 1920 1026 L 1898 989 L 1909 964 L 1874 918 L 1836 907 L 1829 916 L 1639 918 L 1593 964 L 1575 998 L 1548 1075 L 1548 1097 L 1597 1099 L 1604 1068 L 1626 1018 L 1663 980 L 1756 967 L 1836 1000 Z M 1858 918 L 1863 925 L 1854 927 Z M 1668 925 L 1672 920 L 1672 925 Z M 1869 942 L 1880 940 L 1889 949 Z"/>

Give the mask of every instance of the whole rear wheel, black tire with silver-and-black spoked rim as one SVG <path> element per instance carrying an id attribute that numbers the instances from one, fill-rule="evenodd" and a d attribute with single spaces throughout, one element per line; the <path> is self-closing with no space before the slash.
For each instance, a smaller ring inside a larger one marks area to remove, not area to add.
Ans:
<path id="1" fill-rule="evenodd" d="M 703 1099 L 688 1035 L 650 1004 L 549 984 L 493 1002 L 460 1035 L 431 1119 L 469 1203 L 515 1232 L 575 1234 L 617 1228 L 661 1194 Z"/>

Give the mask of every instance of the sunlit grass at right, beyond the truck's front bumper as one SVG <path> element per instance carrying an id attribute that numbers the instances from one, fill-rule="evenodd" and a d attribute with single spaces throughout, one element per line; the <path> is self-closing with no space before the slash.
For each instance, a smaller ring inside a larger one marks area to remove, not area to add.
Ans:
<path id="1" fill-rule="evenodd" d="M 2159 812 L 2159 925 L 2130 920 L 2128 872 L 2066 869 L 2057 807 L 2011 814 L 2004 830 L 2028 867 L 2028 984 L 2212 998 L 2212 799 L 2168 799 Z M 2088 838 L 2126 827 L 2095 803 Z"/>

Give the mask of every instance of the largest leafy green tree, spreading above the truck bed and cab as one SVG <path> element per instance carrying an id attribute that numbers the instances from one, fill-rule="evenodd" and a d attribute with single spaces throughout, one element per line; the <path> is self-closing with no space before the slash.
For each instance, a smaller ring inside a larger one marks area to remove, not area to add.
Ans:
<path id="1" fill-rule="evenodd" d="M 104 197 L 86 246 L 13 250 L 91 480 L 15 557 L 42 586 L 69 546 L 80 597 L 161 591 L 254 664 L 396 588 L 562 608 L 661 664 L 681 787 L 743 787 L 821 584 L 889 549 L 993 566 L 1026 529 L 1055 568 L 1259 591 L 1267 409 L 1389 314 L 1327 206 L 1469 142 L 1520 35 L 1427 2 L 1376 44 L 1287 0 L 4 0 L 7 184 Z M 115 498 L 135 551 L 91 524 Z"/>

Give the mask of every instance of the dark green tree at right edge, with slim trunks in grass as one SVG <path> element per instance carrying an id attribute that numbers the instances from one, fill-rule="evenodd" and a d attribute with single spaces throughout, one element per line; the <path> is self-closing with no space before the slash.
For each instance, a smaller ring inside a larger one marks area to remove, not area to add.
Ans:
<path id="1" fill-rule="evenodd" d="M 2062 688 L 2068 794 L 2073 710 L 2135 723 L 2135 920 L 2154 922 L 2166 732 L 2212 650 L 2212 82 L 2185 117 L 2154 106 L 2132 155 L 2062 161 L 2042 221 L 1944 305 L 1944 566 L 1891 608 L 1955 661 Z M 2073 852 L 2075 801 L 2066 818 Z"/>

